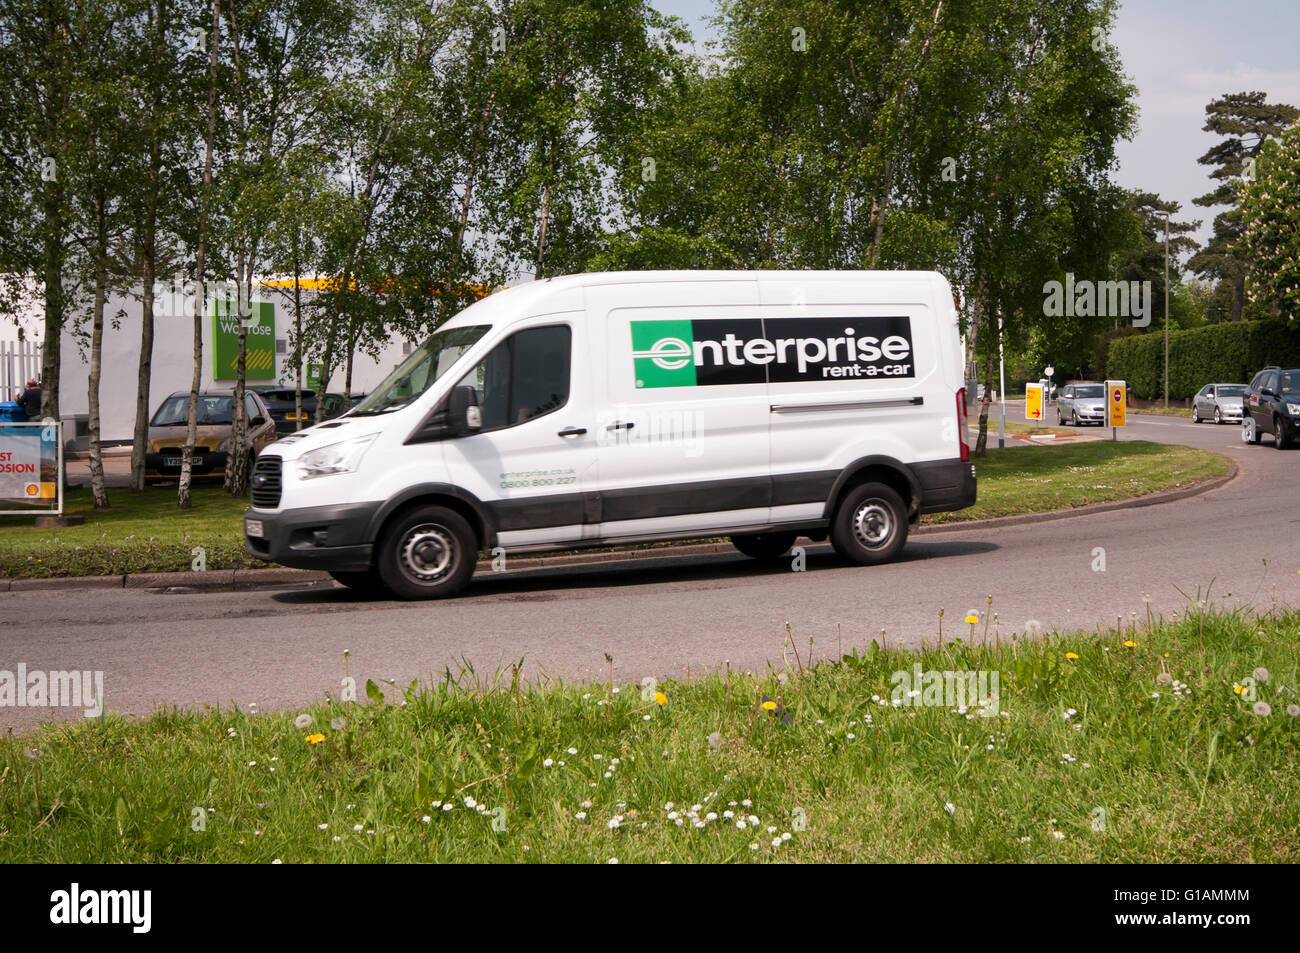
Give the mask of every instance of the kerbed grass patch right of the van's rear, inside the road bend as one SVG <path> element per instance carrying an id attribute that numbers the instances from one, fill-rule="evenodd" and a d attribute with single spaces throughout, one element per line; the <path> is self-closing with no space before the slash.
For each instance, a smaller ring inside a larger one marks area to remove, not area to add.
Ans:
<path id="1" fill-rule="evenodd" d="M 975 458 L 975 467 L 979 475 L 975 506 L 932 514 L 923 517 L 924 523 L 1014 516 L 1128 499 L 1223 476 L 1231 464 L 1209 450 L 1149 441 L 1093 441 L 991 449 L 983 458 Z"/>

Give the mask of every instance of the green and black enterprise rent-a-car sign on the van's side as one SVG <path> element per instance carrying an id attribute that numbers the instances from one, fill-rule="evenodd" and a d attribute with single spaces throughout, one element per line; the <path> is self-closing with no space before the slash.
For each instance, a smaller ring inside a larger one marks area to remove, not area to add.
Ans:
<path id="1" fill-rule="evenodd" d="M 897 317 L 632 321 L 637 387 L 915 377 Z"/>

